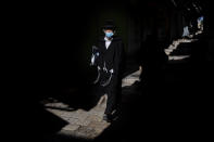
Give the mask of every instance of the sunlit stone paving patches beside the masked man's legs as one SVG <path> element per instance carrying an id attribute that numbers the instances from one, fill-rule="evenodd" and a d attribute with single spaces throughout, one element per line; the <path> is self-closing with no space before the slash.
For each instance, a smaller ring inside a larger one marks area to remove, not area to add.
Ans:
<path id="1" fill-rule="evenodd" d="M 125 77 L 122 87 L 131 86 L 136 80 L 139 80 L 140 73 L 141 69 Z M 100 135 L 111 125 L 102 120 L 106 99 L 108 96 L 103 95 L 98 104 L 88 112 L 84 109 L 74 111 L 68 105 L 56 100 L 53 100 L 52 103 L 46 103 L 45 106 L 47 111 L 68 122 L 60 133 L 91 140 Z"/>

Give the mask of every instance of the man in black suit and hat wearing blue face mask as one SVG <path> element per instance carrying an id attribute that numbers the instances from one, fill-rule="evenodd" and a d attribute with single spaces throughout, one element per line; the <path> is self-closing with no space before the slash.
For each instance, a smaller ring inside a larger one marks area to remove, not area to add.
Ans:
<path id="1" fill-rule="evenodd" d="M 98 40 L 98 57 L 96 65 L 100 73 L 97 80 L 99 92 L 106 93 L 108 102 L 103 119 L 111 121 L 112 113 L 121 101 L 122 72 L 124 70 L 124 46 L 122 38 L 115 36 L 113 21 L 106 21 L 103 26 L 104 36 Z"/>

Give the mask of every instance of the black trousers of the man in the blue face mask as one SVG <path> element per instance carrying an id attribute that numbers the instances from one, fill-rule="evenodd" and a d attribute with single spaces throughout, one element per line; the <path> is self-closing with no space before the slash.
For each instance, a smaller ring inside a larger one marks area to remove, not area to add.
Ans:
<path id="1" fill-rule="evenodd" d="M 102 87 L 100 83 L 98 83 L 96 90 L 99 98 L 104 94 L 108 95 L 106 108 L 104 114 L 112 114 L 112 112 L 118 107 L 122 100 L 121 79 L 118 79 L 117 76 L 113 75 L 110 83 L 106 87 Z"/>

